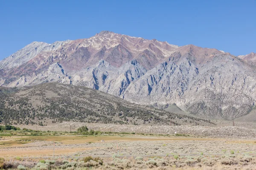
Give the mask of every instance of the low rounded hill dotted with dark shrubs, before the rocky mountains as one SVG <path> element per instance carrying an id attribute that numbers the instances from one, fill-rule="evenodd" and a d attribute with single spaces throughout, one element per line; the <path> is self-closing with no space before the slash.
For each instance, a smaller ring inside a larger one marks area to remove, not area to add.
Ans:
<path id="1" fill-rule="evenodd" d="M 130 125 L 207 125 L 209 120 L 137 105 L 86 87 L 44 83 L 0 88 L 0 123 L 47 125 L 62 121 Z"/>

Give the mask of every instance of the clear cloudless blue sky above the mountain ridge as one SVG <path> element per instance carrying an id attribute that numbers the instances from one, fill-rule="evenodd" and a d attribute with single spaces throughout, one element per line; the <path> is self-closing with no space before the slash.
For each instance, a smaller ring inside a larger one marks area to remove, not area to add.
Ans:
<path id="1" fill-rule="evenodd" d="M 102 30 L 234 55 L 256 52 L 256 0 L 0 0 L 0 59 Z"/>

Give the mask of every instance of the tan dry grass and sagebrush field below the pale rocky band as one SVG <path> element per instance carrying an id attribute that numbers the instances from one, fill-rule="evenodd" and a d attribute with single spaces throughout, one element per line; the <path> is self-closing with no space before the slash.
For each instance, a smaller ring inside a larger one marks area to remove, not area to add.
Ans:
<path id="1" fill-rule="evenodd" d="M 1 136 L 2 168 L 253 170 L 256 167 L 254 139 L 104 133 L 84 136 L 61 132 L 53 136 L 51 133 Z"/>

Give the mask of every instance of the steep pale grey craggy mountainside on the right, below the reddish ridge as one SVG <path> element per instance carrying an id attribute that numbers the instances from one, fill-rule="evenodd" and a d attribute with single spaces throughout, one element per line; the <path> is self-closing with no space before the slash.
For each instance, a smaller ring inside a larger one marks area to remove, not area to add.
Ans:
<path id="1" fill-rule="evenodd" d="M 252 110 L 254 69 L 229 54 L 218 54 L 203 65 L 194 54 L 174 58 L 130 85 L 123 98 L 151 105 L 175 103 L 190 113 L 215 118 L 232 119 Z"/>

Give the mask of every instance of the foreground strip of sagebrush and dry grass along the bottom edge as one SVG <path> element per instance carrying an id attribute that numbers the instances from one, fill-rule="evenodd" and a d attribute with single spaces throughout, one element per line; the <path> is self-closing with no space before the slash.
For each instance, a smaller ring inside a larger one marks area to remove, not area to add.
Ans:
<path id="1" fill-rule="evenodd" d="M 18 165 L 26 167 L 27 170 L 44 169 L 51 170 L 253 170 L 256 158 L 252 156 L 180 156 L 175 159 L 170 157 L 144 157 L 120 158 L 93 158 L 90 156 L 81 159 L 55 159 L 55 160 L 5 160 L 5 164 L 13 169 Z"/>

